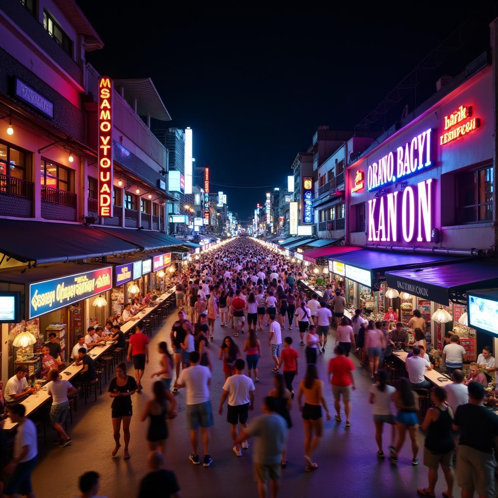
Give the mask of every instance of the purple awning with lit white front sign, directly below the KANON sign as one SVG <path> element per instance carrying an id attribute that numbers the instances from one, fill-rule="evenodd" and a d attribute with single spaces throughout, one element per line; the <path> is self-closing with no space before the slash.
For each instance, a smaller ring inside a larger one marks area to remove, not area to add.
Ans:
<path id="1" fill-rule="evenodd" d="M 386 271 L 436 266 L 437 264 L 448 264 L 468 258 L 440 254 L 362 249 L 350 254 L 331 257 L 331 259 L 344 263 L 346 278 L 371 287 L 372 290 L 376 291 L 379 290 L 380 281 L 384 279 Z"/>

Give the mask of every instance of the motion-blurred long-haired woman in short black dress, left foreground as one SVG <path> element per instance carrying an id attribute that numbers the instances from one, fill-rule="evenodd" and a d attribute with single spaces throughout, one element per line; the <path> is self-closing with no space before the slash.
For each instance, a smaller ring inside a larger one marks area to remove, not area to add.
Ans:
<path id="1" fill-rule="evenodd" d="M 160 380 L 154 382 L 152 393 L 154 397 L 147 401 L 140 420 L 143 422 L 147 417 L 150 418 L 147 431 L 149 450 L 157 450 L 165 455 L 168 438 L 166 418 L 176 416 L 176 400 L 169 391 L 164 390 L 164 385 Z"/>

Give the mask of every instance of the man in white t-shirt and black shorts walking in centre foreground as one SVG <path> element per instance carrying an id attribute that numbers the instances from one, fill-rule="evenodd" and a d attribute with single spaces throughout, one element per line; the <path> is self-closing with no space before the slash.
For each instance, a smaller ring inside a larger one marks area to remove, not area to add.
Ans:
<path id="1" fill-rule="evenodd" d="M 227 422 L 230 424 L 230 434 L 235 443 L 237 441 L 237 426 L 240 422 L 242 427 L 248 426 L 249 410 L 254 409 L 254 382 L 247 375 L 244 375 L 246 362 L 239 358 L 235 362 L 235 375 L 231 375 L 225 381 L 223 394 L 221 395 L 220 408 L 218 413 L 223 414 L 223 404 L 228 398 Z M 244 449 L 249 448 L 247 441 L 242 442 Z M 234 453 L 242 457 L 241 446 L 235 444 Z"/>

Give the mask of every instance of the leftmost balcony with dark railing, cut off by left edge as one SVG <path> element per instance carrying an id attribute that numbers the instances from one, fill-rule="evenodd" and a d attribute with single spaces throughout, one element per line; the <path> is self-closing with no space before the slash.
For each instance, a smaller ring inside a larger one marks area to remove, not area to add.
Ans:
<path id="1" fill-rule="evenodd" d="M 0 175 L 0 215 L 30 218 L 33 209 L 33 183 Z"/>

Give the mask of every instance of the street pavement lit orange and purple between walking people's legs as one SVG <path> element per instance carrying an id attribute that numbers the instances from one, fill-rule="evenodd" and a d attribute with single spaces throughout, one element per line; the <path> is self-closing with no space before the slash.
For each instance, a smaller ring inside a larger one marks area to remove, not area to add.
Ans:
<path id="1" fill-rule="evenodd" d="M 52 431 L 48 431 L 48 444 L 40 440 L 39 463 L 33 473 L 33 487 L 38 498 L 74 497 L 78 495 L 78 477 L 86 471 L 94 470 L 101 475 L 99 494 L 109 498 L 135 497 L 140 479 L 147 473 L 147 442 L 145 434 L 147 422 L 140 422 L 139 417 L 146 400 L 150 396 L 151 386 L 155 379 L 150 375 L 158 368 L 159 354 L 157 344 L 166 340 L 169 344 L 169 332 L 176 313 L 170 315 L 164 325 L 157 329 L 149 346 L 150 362 L 146 367 L 142 381 L 143 392 L 133 395 L 133 417 L 131 420 L 130 460 L 123 459 L 122 448 L 116 458 L 111 457 L 114 448 L 111 424 L 111 398 L 107 393 L 107 385 L 103 385 L 103 393 L 97 402 L 90 401 L 75 414 L 74 423 L 69 427 L 73 439 L 71 446 L 60 448 L 52 445 Z M 167 468 L 176 474 L 182 497 L 231 497 L 246 498 L 257 496 L 256 485 L 252 478 L 251 449 L 243 450 L 242 457 L 233 451 L 230 427 L 226 422 L 226 405 L 223 416 L 218 414 L 218 405 L 224 383 L 222 362 L 218 360 L 218 350 L 222 339 L 233 334 L 231 328 L 220 326 L 218 319 L 215 339 L 209 346 L 209 354 L 213 363 L 211 382 L 211 400 L 215 425 L 211 433 L 210 453 L 213 464 L 209 468 L 202 465 L 193 466 L 188 456 L 191 452 L 189 433 L 185 417 L 185 392 L 180 390 L 176 396 L 178 417 L 169 422 L 169 438 L 167 442 Z M 299 345 L 299 334 L 296 329 L 282 331 L 282 336 L 291 335 L 294 346 L 299 352 L 299 376 L 294 381 L 297 385 L 305 371 L 304 347 Z M 236 341 L 241 347 L 247 337 L 240 335 Z M 255 410 L 249 412 L 250 418 L 261 413 L 261 400 L 273 387 L 272 361 L 267 347 L 267 328 L 258 333 L 262 346 L 260 359 L 259 383 L 256 384 Z M 324 355 L 318 357 L 320 378 L 326 379 L 328 361 L 333 356 L 333 338 L 329 336 L 329 344 Z M 245 358 L 245 355 L 244 355 Z M 355 371 L 357 389 L 352 397 L 352 415 L 350 428 L 345 428 L 343 421 L 334 420 L 333 398 L 330 384 L 326 383 L 325 398 L 332 415 L 332 420 L 325 421 L 324 435 L 315 452 L 313 461 L 319 468 L 315 472 L 305 473 L 303 460 L 304 431 L 297 402 L 294 401 L 291 416 L 293 428 L 289 431 L 287 468 L 282 470 L 281 497 L 317 498 L 317 497 L 415 497 L 417 487 L 427 486 L 427 469 L 422 464 L 423 437 L 420 434 L 420 452 L 418 467 L 411 465 L 411 449 L 406 441 L 399 455 L 397 466 L 389 463 L 387 458 L 379 460 L 375 453 L 374 426 L 371 406 L 368 403 L 368 391 L 371 386 L 369 375 L 362 370 L 357 358 L 352 359 L 357 367 Z M 133 375 L 131 364 L 128 374 Z M 105 392 L 104 392 L 105 391 Z M 384 451 L 390 438 L 390 427 L 385 427 Z M 202 460 L 202 444 L 201 449 Z M 441 497 L 445 489 L 444 479 L 440 471 L 436 496 Z M 460 497 L 460 489 L 455 486 L 456 498 Z"/>

